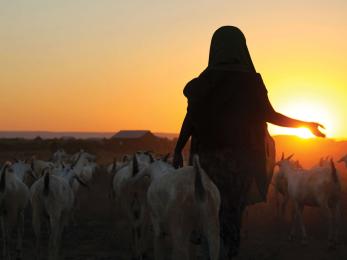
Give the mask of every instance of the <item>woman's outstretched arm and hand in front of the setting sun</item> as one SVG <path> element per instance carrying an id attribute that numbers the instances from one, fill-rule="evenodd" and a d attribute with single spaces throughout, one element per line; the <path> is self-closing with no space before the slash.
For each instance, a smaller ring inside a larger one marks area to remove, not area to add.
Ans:
<path id="1" fill-rule="evenodd" d="M 269 122 L 271 124 L 283 126 L 283 127 L 293 127 L 293 128 L 306 127 L 315 136 L 325 137 L 325 134 L 319 130 L 319 127 L 324 129 L 323 125 L 316 122 L 306 122 L 306 121 L 297 120 L 297 119 L 285 116 L 281 113 L 278 113 L 273 109 L 269 100 L 268 100 L 267 109 L 265 112 L 265 120 L 266 122 Z"/>

